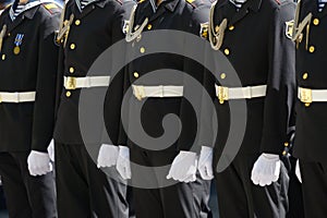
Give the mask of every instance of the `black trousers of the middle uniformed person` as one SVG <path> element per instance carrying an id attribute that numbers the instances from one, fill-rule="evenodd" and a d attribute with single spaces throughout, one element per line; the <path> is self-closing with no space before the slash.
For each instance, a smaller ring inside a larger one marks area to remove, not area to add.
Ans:
<path id="1" fill-rule="evenodd" d="M 132 148 L 132 186 L 137 218 L 207 218 L 210 181 L 167 180 L 177 152 Z"/>

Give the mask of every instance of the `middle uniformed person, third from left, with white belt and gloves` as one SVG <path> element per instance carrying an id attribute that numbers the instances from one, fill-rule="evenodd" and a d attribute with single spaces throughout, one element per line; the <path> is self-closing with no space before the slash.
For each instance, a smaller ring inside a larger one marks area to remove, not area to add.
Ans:
<path id="1" fill-rule="evenodd" d="M 213 175 L 207 175 L 205 170 L 201 171 L 204 177 L 196 173 L 196 152 L 201 152 L 191 150 L 196 134 L 196 116 L 192 105 L 183 96 L 183 93 L 192 88 L 183 83 L 184 74 L 202 82 L 203 68 L 192 64 L 183 53 L 156 53 L 153 47 L 161 45 L 167 48 L 167 45 L 174 45 L 185 52 L 187 47 L 196 46 L 184 46 L 183 39 L 187 40 L 186 34 L 199 38 L 201 24 L 207 22 L 209 5 L 208 1 L 197 0 L 147 0 L 140 1 L 132 11 L 126 34 L 128 55 L 132 58 L 125 66 L 125 89 L 132 88 L 133 94 L 126 97 L 128 109 L 122 110 L 122 117 L 126 121 L 123 123 L 126 126 L 125 134 L 121 134 L 124 136 L 119 141 L 117 169 L 122 178 L 132 179 L 135 213 L 138 218 L 211 216 L 208 209 L 210 181 L 205 180 L 213 179 Z M 181 38 L 169 35 L 159 39 L 156 35 L 159 29 L 165 33 L 180 31 L 179 33 L 185 35 Z M 143 38 L 144 34 L 152 34 L 149 40 Z M 198 52 L 201 49 L 199 46 Z M 152 50 L 155 53 L 150 53 Z M 158 74 L 146 80 L 156 70 Z M 178 75 L 171 76 L 170 70 L 179 71 Z M 138 113 L 136 111 L 141 105 L 143 107 Z M 178 134 L 173 133 L 175 135 L 171 136 L 175 136 L 177 141 L 170 144 L 169 137 L 149 145 L 146 137 L 161 137 L 165 134 L 161 121 L 170 113 L 181 120 L 180 134 L 177 131 Z M 137 119 L 141 119 L 141 125 Z M 146 137 L 137 135 L 141 129 Z M 138 138 L 137 142 L 134 136 Z"/>

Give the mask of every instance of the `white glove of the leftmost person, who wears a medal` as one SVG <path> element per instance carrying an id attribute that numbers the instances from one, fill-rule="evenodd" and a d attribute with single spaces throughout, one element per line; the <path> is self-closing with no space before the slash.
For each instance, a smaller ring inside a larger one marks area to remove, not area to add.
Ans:
<path id="1" fill-rule="evenodd" d="M 31 175 L 43 175 L 52 171 L 52 165 L 48 153 L 32 150 L 27 157 L 28 171 Z"/>

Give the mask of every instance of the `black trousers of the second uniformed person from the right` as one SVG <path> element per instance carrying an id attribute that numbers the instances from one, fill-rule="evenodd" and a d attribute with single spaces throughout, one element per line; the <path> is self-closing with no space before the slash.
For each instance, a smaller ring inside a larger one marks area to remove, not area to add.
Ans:
<path id="1" fill-rule="evenodd" d="M 220 218 L 284 218 L 288 211 L 289 177 L 281 165 L 279 180 L 269 186 L 254 185 L 252 167 L 257 155 L 237 156 L 215 174 Z M 216 161 L 215 161 L 216 162 Z"/>

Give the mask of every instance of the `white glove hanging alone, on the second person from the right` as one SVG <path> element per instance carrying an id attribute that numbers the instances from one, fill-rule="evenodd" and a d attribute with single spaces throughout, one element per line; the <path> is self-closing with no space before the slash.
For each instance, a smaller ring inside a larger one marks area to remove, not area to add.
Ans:
<path id="1" fill-rule="evenodd" d="M 280 165 L 278 155 L 262 154 L 253 166 L 251 180 L 256 185 L 270 185 L 279 178 Z"/>

